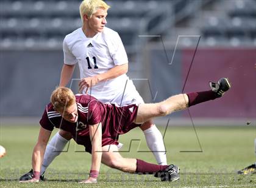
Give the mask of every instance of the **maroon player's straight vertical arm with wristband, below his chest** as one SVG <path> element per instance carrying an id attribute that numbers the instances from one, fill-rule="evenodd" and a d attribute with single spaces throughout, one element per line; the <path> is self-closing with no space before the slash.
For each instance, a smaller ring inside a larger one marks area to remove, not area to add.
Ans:
<path id="1" fill-rule="evenodd" d="M 80 183 L 97 183 L 102 158 L 102 127 L 101 123 L 89 126 L 91 138 L 91 170 L 87 180 Z"/>

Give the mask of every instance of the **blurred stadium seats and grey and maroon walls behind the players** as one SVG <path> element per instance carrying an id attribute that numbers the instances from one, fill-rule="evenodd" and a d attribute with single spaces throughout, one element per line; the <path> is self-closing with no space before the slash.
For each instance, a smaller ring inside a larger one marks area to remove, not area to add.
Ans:
<path id="1" fill-rule="evenodd" d="M 195 124 L 251 121 L 255 126 L 255 0 L 106 2 L 112 6 L 107 27 L 121 36 L 129 55 L 128 75 L 146 102 L 182 90 L 205 90 L 208 81 L 225 76 L 232 91 L 216 102 L 191 108 L 191 116 L 199 118 Z M 1 124 L 24 117 L 38 121 L 59 84 L 63 38 L 81 25 L 79 3 L 0 1 Z M 79 78 L 79 72 L 73 78 Z M 75 92 L 77 83 L 72 86 Z M 188 113 L 172 116 L 172 124 L 179 125 L 175 119 L 187 119 Z"/>

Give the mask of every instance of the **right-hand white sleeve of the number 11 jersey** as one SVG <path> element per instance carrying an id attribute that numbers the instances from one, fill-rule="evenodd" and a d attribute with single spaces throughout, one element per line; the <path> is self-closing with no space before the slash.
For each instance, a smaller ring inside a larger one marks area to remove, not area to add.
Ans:
<path id="1" fill-rule="evenodd" d="M 123 42 L 118 33 L 113 33 L 111 45 L 108 45 L 108 49 L 115 65 L 123 65 L 128 62 L 126 50 L 124 49 Z"/>

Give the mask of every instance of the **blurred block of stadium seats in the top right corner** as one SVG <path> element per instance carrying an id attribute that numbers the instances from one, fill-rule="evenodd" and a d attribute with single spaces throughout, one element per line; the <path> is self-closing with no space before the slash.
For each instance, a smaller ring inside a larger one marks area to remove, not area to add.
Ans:
<path id="1" fill-rule="evenodd" d="M 256 40 L 256 1 L 237 0 L 221 2 L 223 15 L 205 16 L 201 33 L 205 38 L 223 38 L 230 44 Z M 235 42 L 236 41 L 236 42 Z"/>

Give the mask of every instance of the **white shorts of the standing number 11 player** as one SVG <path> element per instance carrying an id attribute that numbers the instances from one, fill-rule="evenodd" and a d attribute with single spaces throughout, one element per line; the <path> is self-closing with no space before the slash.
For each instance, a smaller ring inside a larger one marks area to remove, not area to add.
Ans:
<path id="1" fill-rule="evenodd" d="M 141 98 L 132 80 L 130 79 L 127 81 L 126 89 L 122 90 L 122 92 L 115 93 L 114 95 L 107 95 L 107 93 L 105 93 L 104 96 L 94 97 L 103 103 L 110 102 L 118 104 L 118 106 L 144 103 L 143 98 Z"/>

